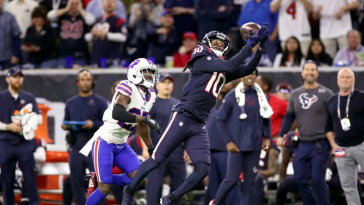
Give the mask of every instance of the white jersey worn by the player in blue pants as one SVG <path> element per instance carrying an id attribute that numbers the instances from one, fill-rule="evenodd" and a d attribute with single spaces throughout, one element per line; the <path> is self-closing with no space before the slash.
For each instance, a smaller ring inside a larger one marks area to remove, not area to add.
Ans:
<path id="1" fill-rule="evenodd" d="M 104 125 L 96 131 L 94 137 L 101 137 L 110 143 L 123 144 L 127 141 L 130 132 L 137 123 L 121 122 L 112 118 L 113 105 L 117 94 L 120 93 L 130 97 L 131 101 L 125 108 L 126 111 L 136 115 L 147 116 L 156 100 L 156 93 L 153 89 L 149 89 L 145 93 L 128 80 L 120 81 L 115 91 L 111 105 L 104 112 Z"/>

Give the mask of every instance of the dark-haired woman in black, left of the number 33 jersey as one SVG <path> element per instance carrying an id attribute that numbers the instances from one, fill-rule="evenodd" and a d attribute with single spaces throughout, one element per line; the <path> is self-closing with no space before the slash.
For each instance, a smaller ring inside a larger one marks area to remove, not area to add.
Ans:
<path id="1" fill-rule="evenodd" d="M 28 62 L 34 68 L 57 67 L 55 35 L 47 19 L 47 10 L 42 6 L 34 8 L 31 19 L 33 25 L 27 29 L 22 51 L 28 53 Z"/>

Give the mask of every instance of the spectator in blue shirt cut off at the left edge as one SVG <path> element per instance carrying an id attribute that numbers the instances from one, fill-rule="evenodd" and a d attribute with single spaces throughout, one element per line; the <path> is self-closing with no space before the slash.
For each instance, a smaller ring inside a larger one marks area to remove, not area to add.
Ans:
<path id="1" fill-rule="evenodd" d="M 0 0 L 0 70 L 19 62 L 20 30 L 15 17 L 4 11 L 4 0 Z"/>

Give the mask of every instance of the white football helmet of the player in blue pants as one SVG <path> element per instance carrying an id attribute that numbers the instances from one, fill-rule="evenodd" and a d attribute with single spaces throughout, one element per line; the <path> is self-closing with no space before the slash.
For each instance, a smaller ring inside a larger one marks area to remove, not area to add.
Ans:
<path id="1" fill-rule="evenodd" d="M 138 58 L 130 63 L 126 69 L 129 81 L 135 85 L 142 85 L 150 89 L 159 82 L 159 72 L 152 61 L 147 58 Z M 152 75 L 152 79 L 147 80 L 145 75 Z"/>

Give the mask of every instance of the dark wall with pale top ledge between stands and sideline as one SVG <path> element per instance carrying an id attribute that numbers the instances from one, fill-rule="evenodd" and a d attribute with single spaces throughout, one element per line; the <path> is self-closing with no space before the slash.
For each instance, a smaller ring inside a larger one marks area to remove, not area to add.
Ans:
<path id="1" fill-rule="evenodd" d="M 341 68 L 320 67 L 319 81 L 320 84 L 338 92 L 337 72 Z M 352 68 L 355 73 L 355 88 L 364 90 L 364 68 Z M 274 89 L 278 83 L 286 81 L 297 88 L 303 84 L 301 77 L 301 68 L 258 68 L 259 74 L 270 77 L 274 81 Z M 111 100 L 111 86 L 116 80 L 126 79 L 126 69 L 90 69 L 96 80 L 94 93 Z M 182 72 L 181 68 L 159 69 L 160 72 L 169 72 L 174 78 L 174 90 L 172 96 L 179 99 L 180 92 L 189 78 L 189 72 Z M 78 69 L 33 69 L 24 70 L 25 75 L 23 90 L 30 92 L 35 97 L 45 98 L 52 102 L 65 102 L 71 96 L 77 94 L 76 74 Z M 6 71 L 0 71 L 0 90 L 8 88 L 6 83 Z"/>

